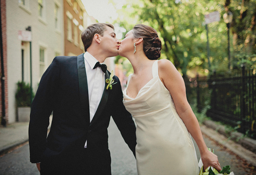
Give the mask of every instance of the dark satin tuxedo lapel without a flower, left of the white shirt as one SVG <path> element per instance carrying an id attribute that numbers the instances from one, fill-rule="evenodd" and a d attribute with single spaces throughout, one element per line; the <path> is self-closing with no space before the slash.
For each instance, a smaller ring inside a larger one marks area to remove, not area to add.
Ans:
<path id="1" fill-rule="evenodd" d="M 77 72 L 79 83 L 79 96 L 81 102 L 81 109 L 83 114 L 88 116 L 88 122 L 90 122 L 90 108 L 89 108 L 89 95 L 88 95 L 88 82 L 85 70 L 84 56 L 80 54 L 77 56 Z"/>

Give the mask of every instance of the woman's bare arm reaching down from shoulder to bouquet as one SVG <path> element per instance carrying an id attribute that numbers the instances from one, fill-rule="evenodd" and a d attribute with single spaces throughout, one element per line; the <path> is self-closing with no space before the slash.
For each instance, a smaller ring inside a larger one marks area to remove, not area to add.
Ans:
<path id="1" fill-rule="evenodd" d="M 159 77 L 163 82 L 164 86 L 170 92 L 177 113 L 185 123 L 189 133 L 194 138 L 201 154 L 202 163 L 206 169 L 209 166 L 216 168 L 218 171 L 221 170 L 218 158 L 216 155 L 211 153 L 202 137 L 199 123 L 192 111 L 189 102 L 187 101 L 185 83 L 181 74 L 177 71 L 171 61 L 160 60 L 158 61 Z"/>

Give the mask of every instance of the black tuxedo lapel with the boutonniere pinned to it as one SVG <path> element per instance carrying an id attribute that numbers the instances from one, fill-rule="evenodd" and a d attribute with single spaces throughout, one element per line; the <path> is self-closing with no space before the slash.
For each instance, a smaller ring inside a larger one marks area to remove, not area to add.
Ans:
<path id="1" fill-rule="evenodd" d="M 109 74 L 108 74 L 108 71 L 106 71 L 106 74 L 105 74 L 105 80 L 106 79 L 109 79 Z M 97 118 L 99 118 L 99 116 L 101 115 L 101 112 L 102 110 L 104 109 L 107 101 L 108 101 L 108 94 L 109 94 L 109 90 L 110 89 L 107 89 L 107 86 L 108 84 L 105 83 L 105 88 L 104 88 L 104 92 L 102 94 L 102 97 L 101 97 L 101 102 L 96 110 L 96 113 L 94 114 L 94 117 L 93 117 L 93 120 L 91 121 L 90 123 L 90 126 L 97 120 Z"/>

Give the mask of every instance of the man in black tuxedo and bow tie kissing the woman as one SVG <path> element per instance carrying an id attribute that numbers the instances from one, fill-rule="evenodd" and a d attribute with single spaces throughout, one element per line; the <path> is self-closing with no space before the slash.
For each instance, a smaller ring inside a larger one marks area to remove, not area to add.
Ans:
<path id="1" fill-rule="evenodd" d="M 111 24 L 96 23 L 81 34 L 85 54 L 57 56 L 43 74 L 31 107 L 30 162 L 41 175 L 111 175 L 108 125 L 113 117 L 135 155 L 135 124 L 122 103 L 119 79 L 101 65 L 118 55 Z M 49 116 L 53 120 L 49 134 Z"/>

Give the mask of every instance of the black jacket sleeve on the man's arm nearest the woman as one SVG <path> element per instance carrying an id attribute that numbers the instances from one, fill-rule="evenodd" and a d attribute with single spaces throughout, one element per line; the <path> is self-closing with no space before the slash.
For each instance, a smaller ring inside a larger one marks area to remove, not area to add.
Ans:
<path id="1" fill-rule="evenodd" d="M 131 149 L 135 156 L 135 146 L 137 144 L 135 123 L 133 121 L 132 115 L 123 105 L 123 94 L 120 81 L 116 76 L 114 76 L 114 78 L 117 82 L 117 89 L 115 95 L 115 105 L 112 105 L 112 118 L 114 119 L 117 128 L 120 130 L 124 141 L 128 144 L 128 147 Z"/>

